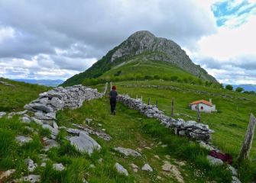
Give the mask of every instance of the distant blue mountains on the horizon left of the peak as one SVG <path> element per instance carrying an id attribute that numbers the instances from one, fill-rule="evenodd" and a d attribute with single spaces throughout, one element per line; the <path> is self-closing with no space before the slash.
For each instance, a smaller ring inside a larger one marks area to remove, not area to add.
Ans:
<path id="1" fill-rule="evenodd" d="M 17 82 L 28 82 L 31 84 L 37 84 L 37 85 L 46 85 L 46 86 L 52 86 L 55 87 L 57 85 L 60 85 L 63 83 L 63 80 L 57 79 L 57 80 L 50 80 L 50 79 L 14 79 Z"/>

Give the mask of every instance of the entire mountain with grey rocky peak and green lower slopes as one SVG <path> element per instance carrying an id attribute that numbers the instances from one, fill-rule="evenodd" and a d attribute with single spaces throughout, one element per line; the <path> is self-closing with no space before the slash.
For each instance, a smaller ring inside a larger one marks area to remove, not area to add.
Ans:
<path id="1" fill-rule="evenodd" d="M 178 77 L 187 78 L 194 77 L 195 80 L 202 79 L 204 81 L 218 83 L 217 80 L 209 75 L 206 70 L 194 64 L 186 52 L 173 40 L 162 37 L 156 37 L 147 30 L 142 30 L 131 34 L 127 40 L 123 41 L 114 49 L 110 50 L 102 59 L 93 64 L 85 72 L 73 75 L 63 86 L 77 85 L 83 83 L 85 79 L 106 79 L 119 75 L 132 74 L 134 68 L 140 69 L 144 63 L 147 68 L 141 75 L 169 75 L 179 71 Z M 130 65 L 129 65 L 130 64 Z M 169 68 L 163 71 L 159 68 Z M 125 66 L 125 67 L 122 67 Z M 151 66 L 149 70 L 148 66 Z M 117 69 L 118 70 L 115 70 Z M 129 69 L 128 69 L 129 68 Z M 140 69 L 142 71 L 143 69 Z M 138 74 L 138 73 L 134 73 Z"/>

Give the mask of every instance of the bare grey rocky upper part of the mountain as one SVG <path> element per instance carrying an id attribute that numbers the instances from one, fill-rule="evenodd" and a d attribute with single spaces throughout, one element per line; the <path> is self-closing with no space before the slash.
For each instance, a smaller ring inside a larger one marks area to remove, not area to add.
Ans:
<path id="1" fill-rule="evenodd" d="M 154 34 L 147 30 L 131 34 L 112 54 L 111 62 L 122 56 L 134 56 L 141 53 L 147 53 L 144 55 L 144 59 L 167 61 L 200 78 L 217 82 L 212 75 L 207 74 L 204 69 L 194 64 L 190 57 L 186 55 L 186 52 L 173 40 L 155 37 Z"/>

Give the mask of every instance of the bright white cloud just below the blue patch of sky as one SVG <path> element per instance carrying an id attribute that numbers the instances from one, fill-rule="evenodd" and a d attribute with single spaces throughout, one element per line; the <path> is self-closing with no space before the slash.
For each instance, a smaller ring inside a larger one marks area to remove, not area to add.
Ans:
<path id="1" fill-rule="evenodd" d="M 219 27 L 218 33 L 199 40 L 199 53 L 219 60 L 256 54 L 256 16 L 240 27 Z"/>

